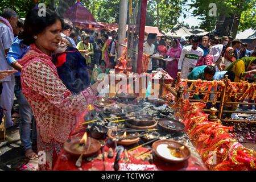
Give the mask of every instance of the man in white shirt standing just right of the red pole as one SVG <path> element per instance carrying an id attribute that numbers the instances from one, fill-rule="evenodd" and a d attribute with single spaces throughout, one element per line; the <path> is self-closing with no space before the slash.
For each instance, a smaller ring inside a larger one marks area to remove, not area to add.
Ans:
<path id="1" fill-rule="evenodd" d="M 146 55 L 153 55 L 155 52 L 155 45 L 153 44 L 156 39 L 156 34 L 148 34 L 147 41 L 143 44 L 143 53 Z M 152 72 L 152 59 L 149 59 L 147 72 Z"/>

